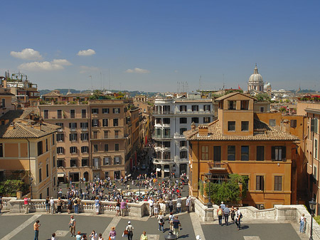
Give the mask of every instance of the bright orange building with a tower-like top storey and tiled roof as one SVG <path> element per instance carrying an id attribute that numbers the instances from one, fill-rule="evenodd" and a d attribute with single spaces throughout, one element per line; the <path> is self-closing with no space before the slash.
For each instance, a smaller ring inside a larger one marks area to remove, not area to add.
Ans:
<path id="1" fill-rule="evenodd" d="M 218 120 L 192 125 L 184 132 L 190 145 L 191 195 L 207 201 L 198 182 L 208 172 L 213 174 L 210 182 L 217 183 L 236 173 L 249 177 L 244 206 L 291 204 L 292 163 L 299 138 L 255 119 L 255 98 L 230 93 L 216 101 Z"/>

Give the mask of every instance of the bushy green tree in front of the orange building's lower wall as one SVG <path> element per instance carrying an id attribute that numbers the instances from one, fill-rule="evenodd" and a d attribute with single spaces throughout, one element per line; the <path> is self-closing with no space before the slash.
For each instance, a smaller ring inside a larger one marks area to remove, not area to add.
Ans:
<path id="1" fill-rule="evenodd" d="M 239 174 L 229 174 L 229 179 L 222 184 L 210 184 L 210 197 L 214 203 L 228 202 L 238 204 L 242 198 L 247 194 L 246 181 L 249 179 L 247 176 L 240 176 Z M 242 192 L 240 191 L 239 184 L 242 184 Z M 209 184 L 205 187 L 206 194 L 209 194 Z"/>

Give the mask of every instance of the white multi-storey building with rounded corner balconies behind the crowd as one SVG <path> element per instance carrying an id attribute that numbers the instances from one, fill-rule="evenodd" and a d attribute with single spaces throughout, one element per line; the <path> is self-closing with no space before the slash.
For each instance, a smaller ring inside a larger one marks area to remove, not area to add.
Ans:
<path id="1" fill-rule="evenodd" d="M 188 143 L 183 132 L 213 122 L 217 116 L 211 99 L 164 98 L 154 103 L 154 165 L 157 177 L 188 174 Z"/>

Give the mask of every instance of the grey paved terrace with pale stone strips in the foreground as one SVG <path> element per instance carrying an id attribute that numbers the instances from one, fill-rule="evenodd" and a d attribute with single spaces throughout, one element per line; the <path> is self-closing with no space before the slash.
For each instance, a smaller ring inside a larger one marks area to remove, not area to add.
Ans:
<path id="1" fill-rule="evenodd" d="M 122 238 L 122 231 L 127 225 L 127 221 L 131 221 L 134 226 L 134 237 L 138 239 L 142 231 L 146 231 L 149 240 L 164 239 L 169 232 L 169 223 L 166 220 L 164 224 L 165 232 L 159 231 L 159 225 L 154 217 L 132 218 L 129 216 L 106 216 L 93 214 L 74 215 L 77 221 L 76 231 L 81 231 L 87 236 L 95 230 L 101 233 L 107 240 L 107 236 L 112 226 L 116 227 L 117 239 Z M 298 224 L 279 223 L 274 220 L 255 220 L 245 219 L 242 221 L 242 229 L 238 231 L 235 224 L 229 226 L 219 226 L 218 221 L 201 222 L 195 213 L 177 214 L 181 221 L 182 230 L 179 239 L 196 239 L 196 235 L 201 235 L 202 240 L 299 240 L 308 239 L 306 234 L 299 234 Z M 167 216 L 166 216 L 167 217 Z M 41 227 L 39 229 L 39 239 L 50 239 L 50 235 L 55 232 L 58 239 L 75 239 L 68 232 L 68 223 L 70 215 L 68 214 L 1 214 L 0 215 L 0 239 L 33 239 L 33 223 L 40 220 Z"/>

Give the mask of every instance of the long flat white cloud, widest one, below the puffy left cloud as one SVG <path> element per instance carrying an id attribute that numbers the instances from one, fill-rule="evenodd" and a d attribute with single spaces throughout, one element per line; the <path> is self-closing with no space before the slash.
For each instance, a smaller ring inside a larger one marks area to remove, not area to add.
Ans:
<path id="1" fill-rule="evenodd" d="M 53 61 L 43 61 L 43 62 L 32 62 L 32 63 L 22 63 L 18 68 L 28 71 L 54 71 L 61 70 L 63 66 L 72 65 L 66 59 L 53 59 Z"/>

